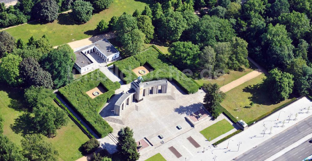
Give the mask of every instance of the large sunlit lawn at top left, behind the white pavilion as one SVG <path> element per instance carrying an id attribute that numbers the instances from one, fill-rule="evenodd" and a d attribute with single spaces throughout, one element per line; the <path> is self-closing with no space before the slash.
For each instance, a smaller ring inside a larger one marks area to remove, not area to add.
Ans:
<path id="1" fill-rule="evenodd" d="M 52 23 L 41 24 L 37 21 L 29 24 L 12 27 L 5 31 L 9 32 L 16 39 L 22 38 L 28 41 L 29 37 L 41 37 L 46 34 L 53 46 L 65 44 L 67 42 L 81 40 L 99 33 L 95 30 L 101 19 L 109 21 L 111 17 L 119 16 L 123 12 L 132 14 L 135 9 L 143 10 L 147 5 L 147 0 L 114 0 L 112 5 L 97 14 L 85 24 L 76 24 L 71 21 L 70 14 L 60 14 L 58 20 Z"/>

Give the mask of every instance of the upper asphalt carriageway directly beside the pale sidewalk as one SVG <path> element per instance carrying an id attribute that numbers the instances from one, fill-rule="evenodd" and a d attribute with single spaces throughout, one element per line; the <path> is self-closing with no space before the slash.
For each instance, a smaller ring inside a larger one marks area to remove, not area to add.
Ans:
<path id="1" fill-rule="evenodd" d="M 279 125 L 281 126 L 281 125 Z M 279 127 L 282 128 L 282 127 Z M 282 133 L 276 135 L 275 137 L 265 141 L 264 143 L 258 145 L 257 147 L 245 152 L 237 160 L 239 161 L 262 161 L 270 158 L 272 155 L 278 153 L 280 150 L 294 144 L 302 137 L 312 133 L 312 116 L 306 120 L 302 120 L 294 126 L 286 129 Z M 268 134 L 266 134 L 268 135 Z M 246 138 L 248 139 L 248 138 Z M 312 146 L 310 146 L 312 148 Z M 301 148 L 303 149 L 303 148 Z M 299 151 L 301 150 L 299 149 Z M 296 153 L 296 152 L 295 152 Z M 300 152 L 301 153 L 301 152 Z M 298 152 L 299 154 L 299 152 Z M 304 153 L 305 154 L 305 153 Z M 290 153 L 290 155 L 293 155 Z M 308 154 L 306 154 L 308 155 Z M 310 155 L 310 154 L 309 154 Z M 308 156 L 309 156 L 308 155 Z M 300 155 L 299 155 L 300 156 Z M 299 157 L 298 156 L 298 157 Z M 295 160 L 305 159 L 303 155 Z M 289 160 L 289 159 L 286 159 Z M 291 159 L 290 159 L 291 160 Z M 294 161 L 295 161 L 294 160 Z"/>

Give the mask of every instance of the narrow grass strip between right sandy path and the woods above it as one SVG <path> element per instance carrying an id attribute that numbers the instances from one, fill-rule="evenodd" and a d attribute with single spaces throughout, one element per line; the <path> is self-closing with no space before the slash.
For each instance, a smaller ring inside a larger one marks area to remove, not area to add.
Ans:
<path id="1" fill-rule="evenodd" d="M 240 71 L 230 71 L 230 74 L 224 74 L 223 76 L 218 77 L 217 79 L 199 79 L 195 80 L 199 85 L 203 85 L 204 83 L 217 83 L 220 87 L 223 85 L 226 85 L 233 80 L 236 80 L 242 76 L 245 76 L 246 74 L 250 73 L 251 71 L 256 69 L 256 66 L 254 66 L 251 62 L 249 62 L 249 68 L 246 68 L 244 66 L 241 67 Z M 197 74 L 197 73 L 195 73 Z M 199 76 L 198 76 L 199 77 Z"/>

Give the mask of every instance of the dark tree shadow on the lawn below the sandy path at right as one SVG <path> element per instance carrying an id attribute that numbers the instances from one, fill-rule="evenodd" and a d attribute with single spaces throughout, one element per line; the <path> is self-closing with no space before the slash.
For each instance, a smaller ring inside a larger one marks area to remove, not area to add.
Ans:
<path id="1" fill-rule="evenodd" d="M 243 89 L 243 92 L 251 93 L 251 97 L 248 97 L 250 101 L 259 105 L 272 105 L 272 101 L 266 91 L 266 86 L 263 83 L 256 85 L 248 85 Z"/>

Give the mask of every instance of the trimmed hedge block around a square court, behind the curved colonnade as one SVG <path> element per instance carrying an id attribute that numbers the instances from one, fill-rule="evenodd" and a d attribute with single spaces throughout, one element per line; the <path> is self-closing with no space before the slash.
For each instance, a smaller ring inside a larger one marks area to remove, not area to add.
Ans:
<path id="1" fill-rule="evenodd" d="M 154 71 L 143 76 L 144 81 L 168 79 L 174 80 L 188 94 L 198 91 L 199 86 L 191 78 L 188 78 L 181 71 L 173 66 L 154 46 L 137 55 L 130 56 L 114 64 L 118 68 L 119 74 L 123 73 L 126 84 L 137 79 L 137 75 L 132 71 L 134 68 L 148 64 Z M 119 75 L 120 76 L 120 75 Z"/>

